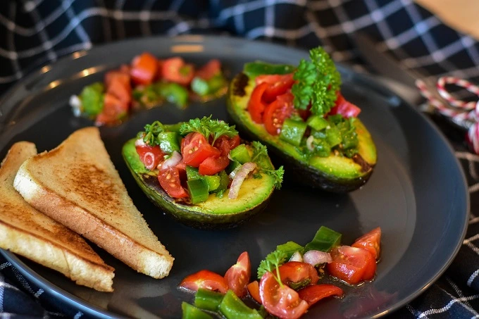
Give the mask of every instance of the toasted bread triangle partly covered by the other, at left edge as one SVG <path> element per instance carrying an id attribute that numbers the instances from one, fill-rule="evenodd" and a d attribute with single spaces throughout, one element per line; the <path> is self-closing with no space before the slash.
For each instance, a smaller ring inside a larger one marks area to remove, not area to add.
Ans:
<path id="1" fill-rule="evenodd" d="M 35 144 L 18 142 L 0 168 L 0 247 L 58 270 L 77 284 L 113 292 L 113 268 L 79 234 L 27 204 L 13 188 L 20 165 L 37 154 Z"/>

